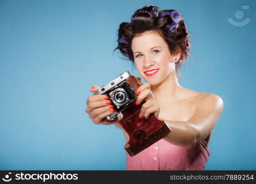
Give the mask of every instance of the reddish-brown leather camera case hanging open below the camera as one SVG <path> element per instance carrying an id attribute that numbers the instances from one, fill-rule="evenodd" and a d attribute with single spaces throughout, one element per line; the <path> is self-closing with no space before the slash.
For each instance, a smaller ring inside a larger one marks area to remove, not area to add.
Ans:
<path id="1" fill-rule="evenodd" d="M 134 93 L 142 84 L 141 79 L 139 77 L 135 78 L 133 75 L 128 77 L 126 81 L 133 88 Z M 123 118 L 119 121 L 130 137 L 124 147 L 130 156 L 138 154 L 171 132 L 165 122 L 158 120 L 153 113 L 147 119 L 144 117 L 139 119 L 139 113 L 144 102 L 142 101 L 139 105 L 133 103 L 123 110 Z"/>

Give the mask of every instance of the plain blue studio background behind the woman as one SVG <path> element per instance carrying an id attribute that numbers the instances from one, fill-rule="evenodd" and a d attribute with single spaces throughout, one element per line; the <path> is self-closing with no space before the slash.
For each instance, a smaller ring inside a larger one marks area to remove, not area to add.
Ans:
<path id="1" fill-rule="evenodd" d="M 182 13 L 192 49 L 180 84 L 224 101 L 206 169 L 256 169 L 256 1 L 231 0 L 0 1 L 0 169 L 125 170 L 122 130 L 92 123 L 85 101 L 94 84 L 138 76 L 113 50 L 145 5 Z"/>

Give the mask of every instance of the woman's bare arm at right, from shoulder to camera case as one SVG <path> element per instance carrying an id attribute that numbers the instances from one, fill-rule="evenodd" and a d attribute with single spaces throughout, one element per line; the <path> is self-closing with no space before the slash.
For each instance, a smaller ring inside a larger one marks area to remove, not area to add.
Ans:
<path id="1" fill-rule="evenodd" d="M 193 147 L 211 133 L 222 110 L 222 99 L 208 93 L 199 99 L 195 114 L 188 121 L 163 120 L 172 129 L 163 139 L 174 145 Z"/>

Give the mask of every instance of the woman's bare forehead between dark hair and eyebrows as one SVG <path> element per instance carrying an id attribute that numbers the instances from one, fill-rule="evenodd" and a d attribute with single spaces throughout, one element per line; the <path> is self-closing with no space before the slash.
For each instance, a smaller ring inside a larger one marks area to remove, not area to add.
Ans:
<path id="1" fill-rule="evenodd" d="M 146 31 L 135 36 L 131 42 L 133 52 L 147 50 L 155 46 L 166 47 L 165 40 L 156 31 Z"/>

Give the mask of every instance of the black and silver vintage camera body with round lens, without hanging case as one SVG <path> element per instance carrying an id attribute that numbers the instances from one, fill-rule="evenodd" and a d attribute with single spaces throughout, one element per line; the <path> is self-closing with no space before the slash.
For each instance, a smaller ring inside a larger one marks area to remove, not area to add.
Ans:
<path id="1" fill-rule="evenodd" d="M 116 79 L 95 92 L 95 94 L 109 96 L 109 100 L 111 100 L 112 105 L 114 105 L 115 112 L 105 118 L 107 121 L 117 120 L 118 113 L 122 112 L 136 101 L 134 91 L 136 91 L 139 86 L 138 82 L 140 82 L 139 78 L 135 78 L 130 72 L 125 71 Z"/>

